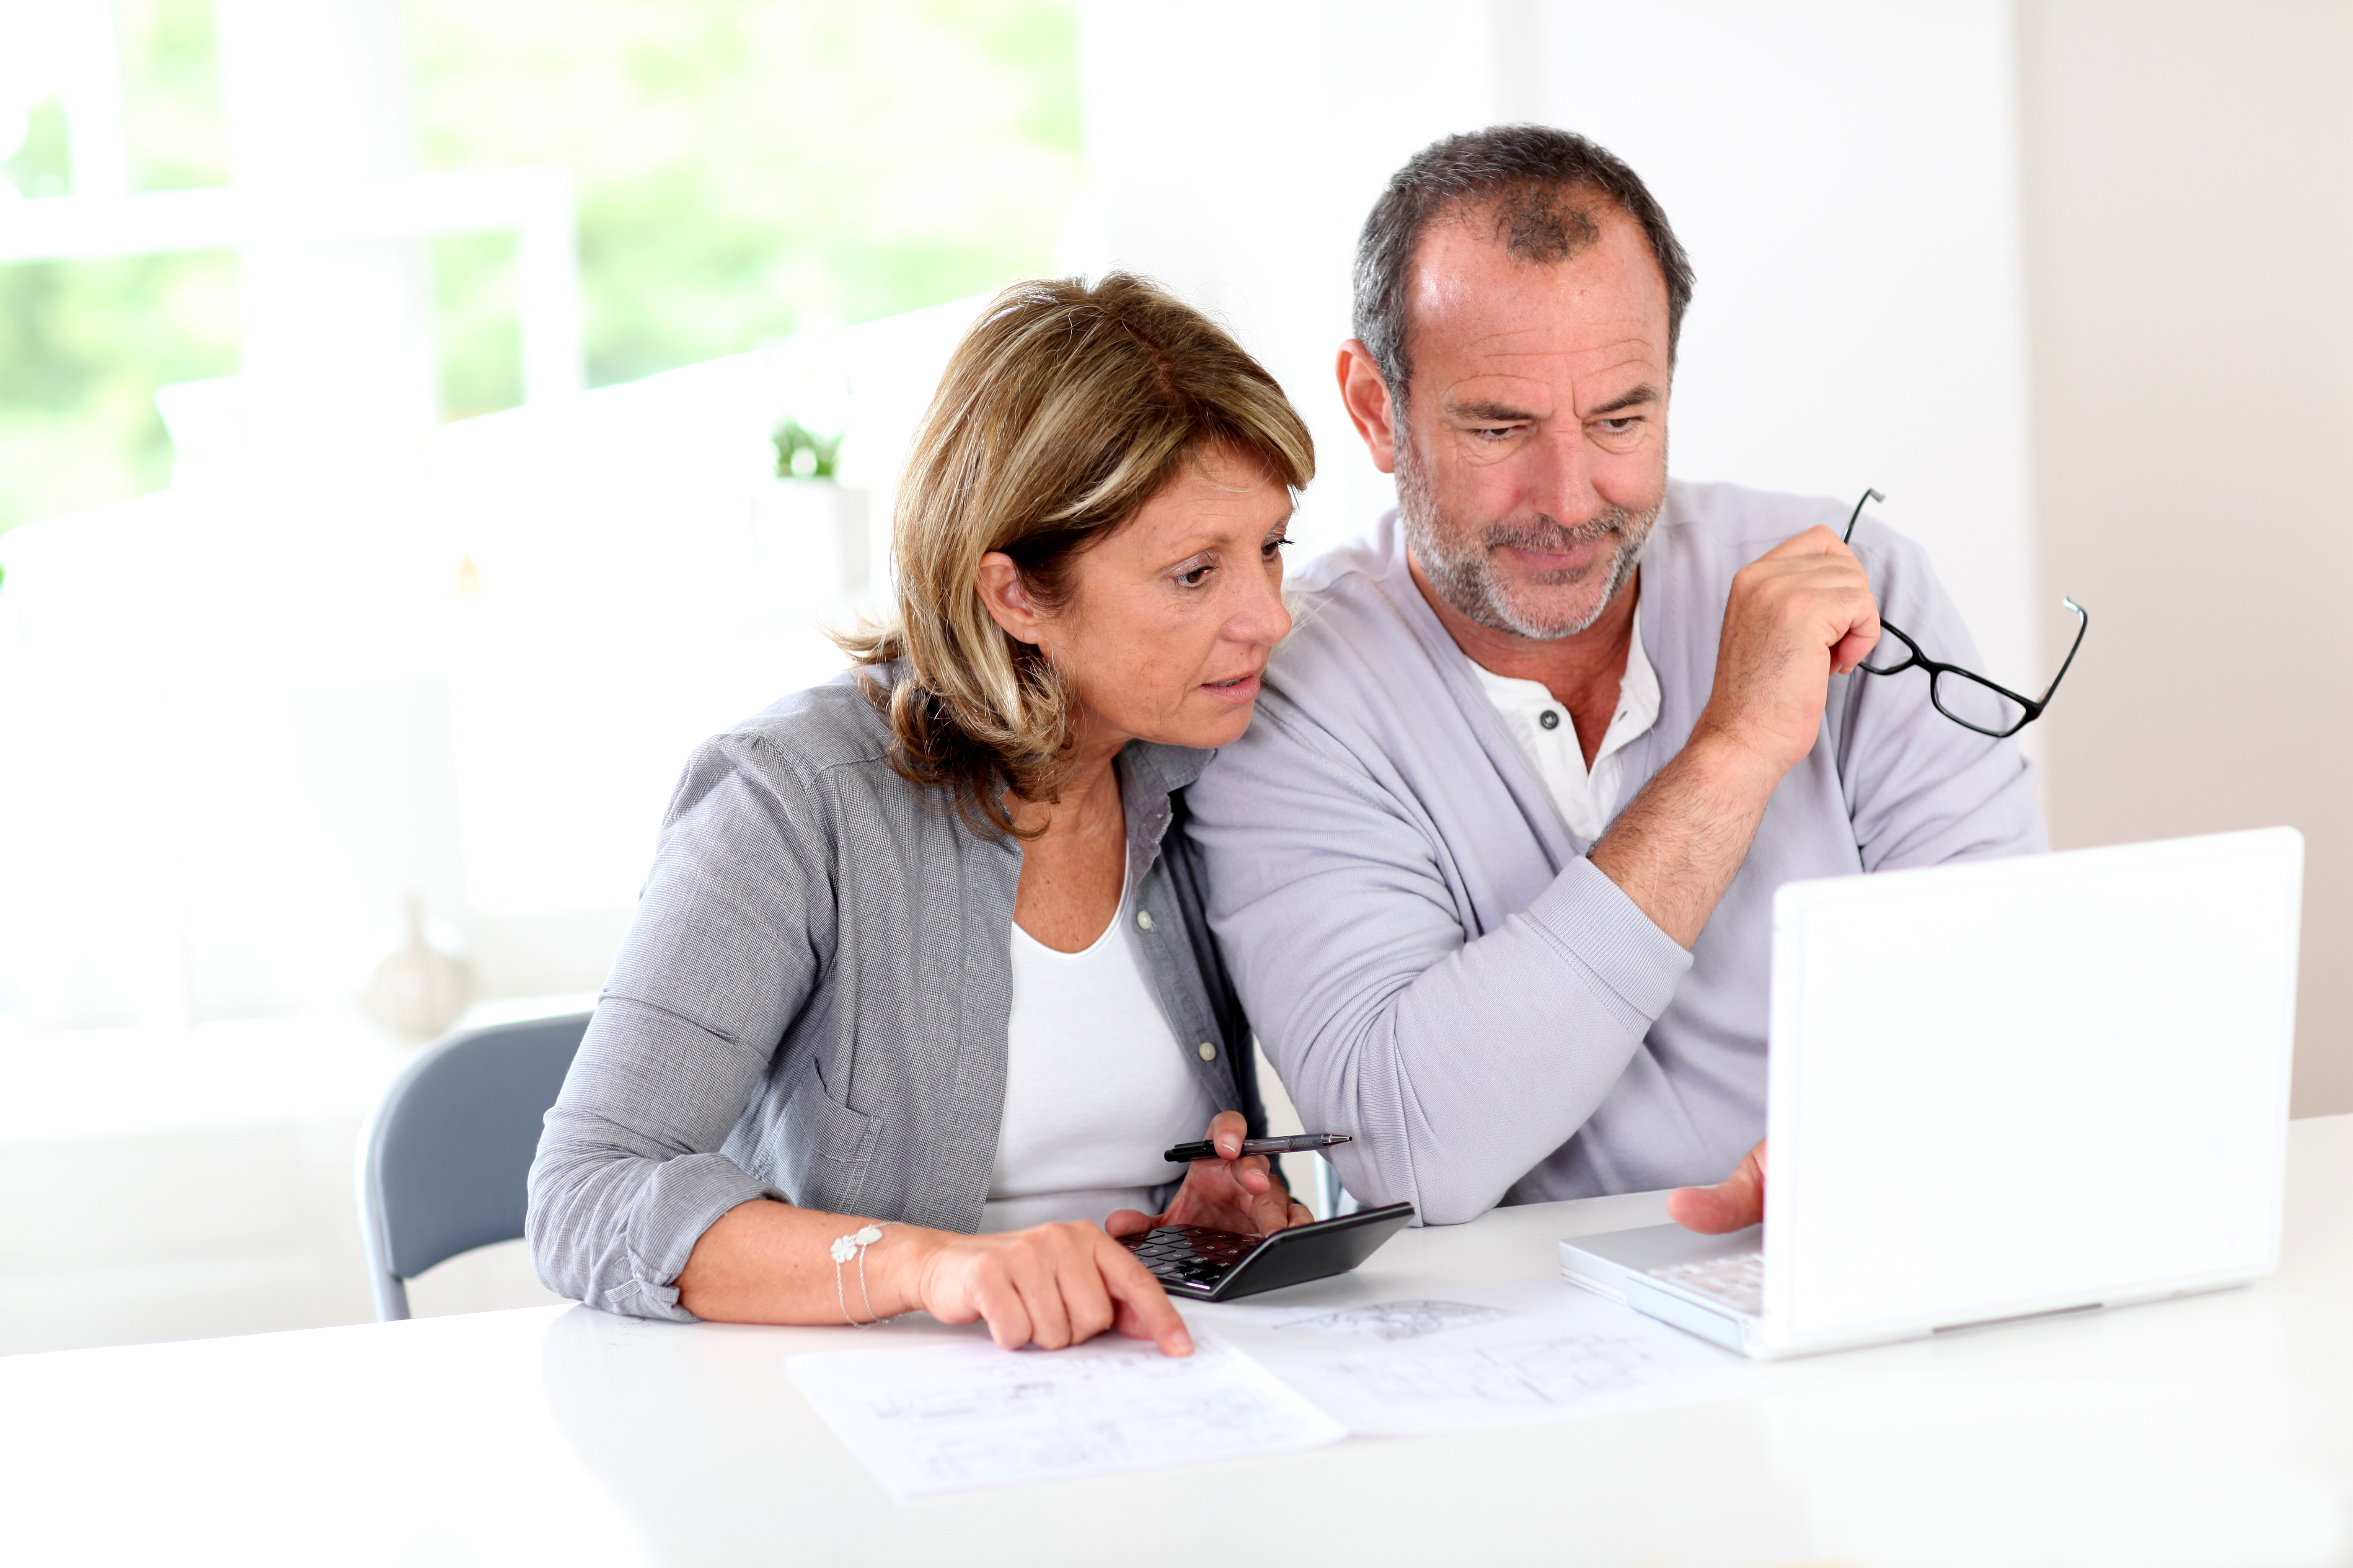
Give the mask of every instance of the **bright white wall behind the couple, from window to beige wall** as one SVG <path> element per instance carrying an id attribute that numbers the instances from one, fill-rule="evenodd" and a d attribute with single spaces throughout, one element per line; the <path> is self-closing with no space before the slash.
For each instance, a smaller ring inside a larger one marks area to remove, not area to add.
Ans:
<path id="1" fill-rule="evenodd" d="M 2002 0 L 1082 16 L 1089 212 L 1064 261 L 1153 273 L 1264 357 L 1315 430 L 1311 545 L 1391 503 L 1332 390 L 1367 207 L 1435 136 L 1546 120 L 1621 153 L 1699 270 L 1673 470 L 1835 496 L 1878 484 L 1988 672 L 2038 679 Z"/>

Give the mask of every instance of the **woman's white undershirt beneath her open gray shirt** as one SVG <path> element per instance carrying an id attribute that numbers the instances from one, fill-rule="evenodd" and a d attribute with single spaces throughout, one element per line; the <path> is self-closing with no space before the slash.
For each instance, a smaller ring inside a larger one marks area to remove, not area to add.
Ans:
<path id="1" fill-rule="evenodd" d="M 1005 1126 L 981 1229 L 1096 1220 L 1153 1208 L 1176 1166 L 1172 1143 L 1200 1138 L 1217 1105 L 1169 1032 L 1127 910 L 1082 952 L 1054 952 L 1014 926 L 1014 1011 L 1005 1030 Z"/>

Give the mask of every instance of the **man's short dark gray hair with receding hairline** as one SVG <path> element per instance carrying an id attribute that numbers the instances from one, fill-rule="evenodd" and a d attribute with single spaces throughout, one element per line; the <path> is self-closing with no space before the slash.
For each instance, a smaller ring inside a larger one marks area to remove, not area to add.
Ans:
<path id="1" fill-rule="evenodd" d="M 1372 350 L 1400 407 L 1414 376 L 1405 303 L 1424 230 L 1454 207 L 1478 205 L 1494 214 L 1494 235 L 1513 256 L 1567 261 L 1602 233 L 1593 200 L 1614 202 L 1642 226 L 1666 277 L 1666 355 L 1675 362 L 1682 310 L 1692 303 L 1692 261 L 1642 176 L 1577 132 L 1492 125 L 1433 141 L 1405 160 L 1355 242 L 1355 336 Z"/>

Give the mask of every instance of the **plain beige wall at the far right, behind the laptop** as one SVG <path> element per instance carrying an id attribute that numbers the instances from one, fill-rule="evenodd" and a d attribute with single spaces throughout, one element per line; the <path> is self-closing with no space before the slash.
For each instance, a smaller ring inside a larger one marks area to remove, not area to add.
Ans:
<path id="1" fill-rule="evenodd" d="M 2304 830 L 2297 1114 L 2353 1112 L 2353 5 L 2021 5 L 2059 844 Z"/>

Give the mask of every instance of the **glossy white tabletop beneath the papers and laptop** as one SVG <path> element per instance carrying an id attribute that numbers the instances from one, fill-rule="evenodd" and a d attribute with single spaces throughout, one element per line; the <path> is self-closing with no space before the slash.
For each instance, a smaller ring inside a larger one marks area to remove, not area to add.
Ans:
<path id="1" fill-rule="evenodd" d="M 1777 1363 L 1741 1403 L 911 1507 L 784 1354 L 960 1331 L 546 1307 L 9 1356 L 0 1556 L 1125 1566 L 1226 1535 L 1245 1561 L 1322 1563 L 2348 1563 L 2353 1117 L 2297 1124 L 2289 1150 L 2285 1267 L 2249 1291 Z M 1362 1276 L 1555 1276 L 1560 1237 L 1657 1213 L 1405 1232 Z"/>

